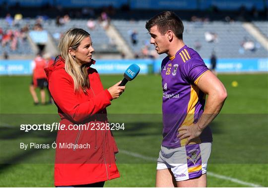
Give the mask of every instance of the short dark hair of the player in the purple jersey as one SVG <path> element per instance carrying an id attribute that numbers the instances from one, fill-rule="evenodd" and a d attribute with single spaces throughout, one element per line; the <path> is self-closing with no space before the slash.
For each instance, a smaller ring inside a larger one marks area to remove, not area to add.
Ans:
<path id="1" fill-rule="evenodd" d="M 160 12 L 146 22 L 145 28 L 150 31 L 151 27 L 154 25 L 157 25 L 158 31 L 161 33 L 161 35 L 164 35 L 168 30 L 171 30 L 178 39 L 183 39 L 183 22 L 181 18 L 174 12 Z"/>

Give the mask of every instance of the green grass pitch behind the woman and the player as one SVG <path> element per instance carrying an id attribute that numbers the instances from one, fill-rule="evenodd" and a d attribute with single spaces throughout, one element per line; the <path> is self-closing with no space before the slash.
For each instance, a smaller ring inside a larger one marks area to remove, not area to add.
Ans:
<path id="1" fill-rule="evenodd" d="M 228 98 L 221 115 L 210 125 L 213 146 L 208 172 L 268 187 L 268 74 L 218 77 L 228 91 Z M 101 79 L 108 88 L 122 76 L 102 75 Z M 238 87 L 232 87 L 234 80 Z M 33 105 L 30 81 L 30 76 L 0 77 L 0 161 L 17 160 L 17 164 L 0 169 L 0 187 L 53 187 L 54 149 L 23 151 L 19 143 L 52 143 L 55 132 L 23 133 L 18 128 L 2 126 L 18 127 L 44 119 L 58 121 L 55 105 Z M 114 131 L 119 149 L 157 158 L 162 139 L 160 83 L 159 75 L 139 75 L 107 108 L 110 121 L 125 122 L 124 131 Z M 106 182 L 106 187 L 154 187 L 155 162 L 125 153 L 119 153 L 117 158 L 121 178 Z M 208 187 L 247 186 L 208 176 Z"/>

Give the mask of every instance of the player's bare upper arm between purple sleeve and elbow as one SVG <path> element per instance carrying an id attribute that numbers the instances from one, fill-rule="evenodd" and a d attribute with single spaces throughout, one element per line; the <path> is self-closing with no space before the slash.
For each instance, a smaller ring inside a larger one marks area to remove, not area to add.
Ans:
<path id="1" fill-rule="evenodd" d="M 221 81 L 211 72 L 206 71 L 197 82 L 197 86 L 205 94 L 226 92 Z"/>

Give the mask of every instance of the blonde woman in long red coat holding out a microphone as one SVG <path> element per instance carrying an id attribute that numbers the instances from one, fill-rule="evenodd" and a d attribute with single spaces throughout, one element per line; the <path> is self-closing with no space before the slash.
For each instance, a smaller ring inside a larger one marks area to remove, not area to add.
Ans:
<path id="1" fill-rule="evenodd" d="M 98 72 L 90 67 L 95 63 L 94 49 L 86 31 L 69 29 L 59 50 L 61 55 L 54 65 L 46 68 L 60 124 L 66 125 L 57 135 L 55 186 L 103 187 L 105 181 L 120 177 L 115 164 L 118 149 L 111 131 L 97 130 L 94 125 L 107 123 L 106 107 L 124 92 L 125 86 L 119 86 L 120 81 L 103 89 Z M 73 130 L 72 125 L 89 126 Z"/>

